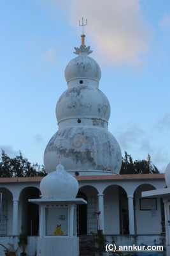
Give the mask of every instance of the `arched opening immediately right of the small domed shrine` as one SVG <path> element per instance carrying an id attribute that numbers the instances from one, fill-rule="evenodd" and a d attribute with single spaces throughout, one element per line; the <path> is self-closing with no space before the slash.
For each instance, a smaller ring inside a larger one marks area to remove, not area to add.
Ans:
<path id="1" fill-rule="evenodd" d="M 93 186 L 83 186 L 78 191 L 78 198 L 83 198 L 87 201 L 87 205 L 78 205 L 77 208 L 77 234 L 90 234 L 96 232 L 97 220 L 97 189 Z"/>

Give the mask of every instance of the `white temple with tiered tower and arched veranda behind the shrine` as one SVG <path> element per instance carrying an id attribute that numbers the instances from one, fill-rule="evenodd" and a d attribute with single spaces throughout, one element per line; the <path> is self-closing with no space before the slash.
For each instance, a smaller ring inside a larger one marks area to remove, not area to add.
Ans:
<path id="1" fill-rule="evenodd" d="M 55 184 L 55 176 L 52 178 L 54 172 L 57 172 L 57 166 L 59 169 L 63 166 L 62 172 L 69 173 L 78 181 L 76 198 L 73 195 L 70 204 L 67 200 L 67 207 L 72 207 L 70 212 L 76 207 L 76 224 L 72 227 L 67 223 L 68 228 L 72 229 L 67 229 L 64 224 L 60 236 L 73 237 L 75 234 L 81 240 L 81 236 L 88 237 L 91 232 L 103 230 L 108 243 L 115 241 L 117 245 L 152 245 L 153 241 L 157 241 L 157 244 L 165 243 L 162 199 L 156 196 L 141 197 L 143 191 L 165 188 L 164 174 L 119 175 L 122 154 L 117 140 L 108 131 L 110 103 L 99 90 L 101 69 L 89 56 L 92 51 L 85 46 L 85 35 L 81 35 L 81 38 L 81 46 L 75 47 L 74 52 L 78 56 L 69 61 L 65 70 L 68 88 L 62 93 L 56 106 L 59 130 L 45 148 L 44 164 L 48 173 L 46 177 L 51 177 L 50 182 L 46 183 L 47 188 L 42 185 L 42 177 L 0 179 L 0 193 L 3 198 L 1 243 L 13 243 L 17 246 L 17 236 L 23 225 L 29 236 L 26 248 L 28 256 L 43 255 L 37 245 L 39 237 L 53 236 L 55 232 L 55 226 L 48 227 L 46 224 L 43 227 L 41 209 L 47 207 L 45 205 L 50 198 L 52 203 L 49 201 L 48 207 L 64 204 L 60 199 L 64 198 L 67 183 L 63 183 L 62 194 L 56 192 L 60 182 Z M 51 192 L 49 189 L 52 189 Z M 59 202 L 52 198 L 58 198 Z M 55 215 L 51 210 L 45 212 L 51 214 L 51 218 Z M 67 209 L 63 212 L 59 209 L 61 226 L 66 220 L 65 216 L 72 218 L 74 215 L 73 213 L 72 217 L 69 216 Z M 2 252 L 3 248 L 0 248 L 1 255 Z M 62 255 L 65 254 L 59 253 L 59 256 Z M 75 254 L 78 255 L 81 252 Z"/>

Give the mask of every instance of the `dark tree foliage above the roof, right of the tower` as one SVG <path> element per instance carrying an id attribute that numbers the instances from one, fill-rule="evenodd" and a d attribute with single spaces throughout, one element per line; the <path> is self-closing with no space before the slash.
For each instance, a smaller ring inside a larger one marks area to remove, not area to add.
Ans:
<path id="1" fill-rule="evenodd" d="M 122 157 L 122 167 L 120 174 L 145 174 L 145 173 L 159 173 L 157 167 L 152 163 L 150 154 L 147 160 L 133 161 L 131 155 L 125 152 L 125 157 Z"/>

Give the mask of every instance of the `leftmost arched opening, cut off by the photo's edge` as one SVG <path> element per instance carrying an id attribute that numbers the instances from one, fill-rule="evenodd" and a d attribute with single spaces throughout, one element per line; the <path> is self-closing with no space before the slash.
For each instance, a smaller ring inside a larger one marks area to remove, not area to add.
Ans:
<path id="1" fill-rule="evenodd" d="M 0 188 L 1 195 L 1 221 L 0 221 L 0 236 L 12 235 L 13 227 L 13 195 L 6 188 Z"/>

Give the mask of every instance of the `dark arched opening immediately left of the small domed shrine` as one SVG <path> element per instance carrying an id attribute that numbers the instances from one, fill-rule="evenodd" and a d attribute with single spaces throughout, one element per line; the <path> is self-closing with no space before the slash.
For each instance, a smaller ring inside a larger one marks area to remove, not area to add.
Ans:
<path id="1" fill-rule="evenodd" d="M 29 203 L 29 199 L 39 198 L 38 188 L 24 188 L 20 194 L 20 207 L 22 208 L 21 225 L 28 236 L 38 236 L 39 205 Z"/>

